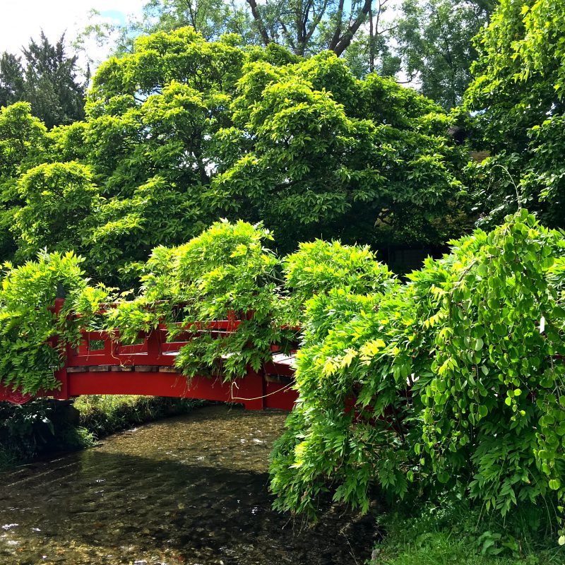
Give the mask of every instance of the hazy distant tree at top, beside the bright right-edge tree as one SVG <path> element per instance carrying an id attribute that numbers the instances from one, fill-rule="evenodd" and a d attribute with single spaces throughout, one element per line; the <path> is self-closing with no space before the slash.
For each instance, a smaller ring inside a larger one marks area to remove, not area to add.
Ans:
<path id="1" fill-rule="evenodd" d="M 460 105 L 477 58 L 472 38 L 496 0 L 405 0 L 393 35 L 409 81 L 446 109 Z"/>

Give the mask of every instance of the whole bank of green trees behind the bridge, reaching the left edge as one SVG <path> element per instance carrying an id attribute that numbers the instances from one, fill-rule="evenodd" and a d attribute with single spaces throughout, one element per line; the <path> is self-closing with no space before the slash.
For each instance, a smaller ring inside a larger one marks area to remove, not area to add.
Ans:
<path id="1" fill-rule="evenodd" d="M 47 133 L 11 108 L 0 143 L 26 145 L 5 173 L 0 150 L 4 258 L 73 249 L 89 275 L 129 287 L 151 249 L 218 218 L 264 222 L 283 253 L 319 237 L 433 246 L 470 224 L 474 167 L 448 133 L 455 118 L 331 52 L 157 32 L 100 66 L 84 122 Z"/>

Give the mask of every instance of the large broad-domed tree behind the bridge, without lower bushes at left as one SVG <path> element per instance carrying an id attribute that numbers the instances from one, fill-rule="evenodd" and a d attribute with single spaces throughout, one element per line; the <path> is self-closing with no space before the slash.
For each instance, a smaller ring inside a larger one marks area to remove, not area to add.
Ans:
<path id="1" fill-rule="evenodd" d="M 100 68 L 88 116 L 105 194 L 158 175 L 204 223 L 263 220 L 285 249 L 321 234 L 438 242 L 451 229 L 440 215 L 465 200 L 468 158 L 446 114 L 332 53 L 244 52 L 189 28 L 143 37 Z"/>

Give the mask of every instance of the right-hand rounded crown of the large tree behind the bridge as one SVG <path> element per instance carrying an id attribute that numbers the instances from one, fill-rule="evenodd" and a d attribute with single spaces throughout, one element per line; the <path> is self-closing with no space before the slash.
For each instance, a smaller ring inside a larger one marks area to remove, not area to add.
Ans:
<path id="1" fill-rule="evenodd" d="M 249 65 L 238 86 L 211 184 L 220 206 L 261 218 L 283 250 L 321 234 L 429 243 L 449 225 L 438 230 L 435 214 L 465 208 L 468 157 L 448 138 L 448 118 L 413 91 L 358 81 L 328 53 L 280 70 Z"/>

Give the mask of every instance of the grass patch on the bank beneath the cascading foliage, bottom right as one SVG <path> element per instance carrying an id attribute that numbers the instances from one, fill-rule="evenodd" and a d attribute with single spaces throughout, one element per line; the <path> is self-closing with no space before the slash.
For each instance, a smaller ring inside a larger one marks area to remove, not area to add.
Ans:
<path id="1" fill-rule="evenodd" d="M 554 517 L 553 517 L 554 520 Z M 386 532 L 371 565 L 563 565 L 546 509 L 523 506 L 511 516 L 482 516 L 467 501 L 424 504 L 379 517 Z"/>

